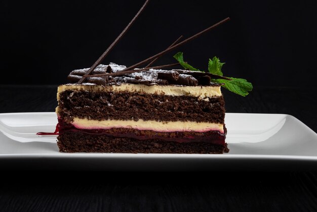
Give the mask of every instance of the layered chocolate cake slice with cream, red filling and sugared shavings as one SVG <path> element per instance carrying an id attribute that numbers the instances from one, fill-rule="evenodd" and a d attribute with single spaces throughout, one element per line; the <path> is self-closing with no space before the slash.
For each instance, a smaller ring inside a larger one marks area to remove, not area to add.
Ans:
<path id="1" fill-rule="evenodd" d="M 207 73 L 150 69 L 124 76 L 125 66 L 99 65 L 86 83 L 58 87 L 61 152 L 228 152 L 220 84 Z M 76 83 L 88 71 L 73 70 Z M 95 76 L 94 76 L 95 75 Z"/>

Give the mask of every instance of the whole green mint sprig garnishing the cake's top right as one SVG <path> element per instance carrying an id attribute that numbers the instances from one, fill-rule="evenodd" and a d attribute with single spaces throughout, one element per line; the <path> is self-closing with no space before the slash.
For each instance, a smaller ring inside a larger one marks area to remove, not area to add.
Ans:
<path id="1" fill-rule="evenodd" d="M 184 62 L 183 53 L 178 52 L 174 55 L 174 58 L 185 68 L 189 70 L 193 70 L 196 72 L 203 72 L 199 69 L 194 68 L 193 66 L 189 65 L 187 62 Z M 209 59 L 208 61 L 208 71 L 209 73 L 217 76 L 223 76 L 222 74 L 222 65 L 225 64 L 224 62 L 220 62 L 219 58 L 216 56 L 213 59 Z M 242 78 L 233 78 L 227 77 L 230 80 L 225 79 L 212 79 L 211 81 L 214 83 L 220 83 L 221 87 L 228 89 L 229 91 L 246 96 L 252 91 L 253 86 L 250 82 Z"/>

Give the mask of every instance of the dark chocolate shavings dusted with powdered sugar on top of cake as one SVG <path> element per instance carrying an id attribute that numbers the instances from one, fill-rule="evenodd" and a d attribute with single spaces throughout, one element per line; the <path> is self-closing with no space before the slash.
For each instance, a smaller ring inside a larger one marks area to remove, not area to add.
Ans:
<path id="1" fill-rule="evenodd" d="M 121 76 L 99 77 L 94 75 L 106 73 L 119 73 L 126 66 L 110 63 L 109 65 L 98 65 L 91 77 L 87 77 L 86 85 L 121 85 L 122 83 L 151 85 L 183 85 L 183 86 L 219 86 L 220 84 L 210 82 L 209 73 L 192 72 L 190 70 L 161 70 L 149 69 L 125 74 Z M 70 83 L 77 83 L 89 68 L 73 70 L 67 77 Z"/>

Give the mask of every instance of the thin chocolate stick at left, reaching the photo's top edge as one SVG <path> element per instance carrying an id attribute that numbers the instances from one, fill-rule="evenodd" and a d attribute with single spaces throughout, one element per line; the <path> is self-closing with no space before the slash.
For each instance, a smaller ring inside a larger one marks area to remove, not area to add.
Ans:
<path id="1" fill-rule="evenodd" d="M 149 0 L 146 0 L 146 2 L 143 4 L 139 12 L 133 17 L 133 19 L 130 21 L 130 23 L 126 26 L 126 28 L 119 34 L 119 36 L 113 41 L 113 43 L 108 47 L 108 49 L 98 58 L 98 60 L 89 68 L 86 75 L 90 75 L 93 70 L 101 63 L 101 61 L 108 55 L 108 53 L 113 49 L 113 47 L 122 39 L 122 37 L 125 35 L 125 33 L 129 30 L 129 28 L 132 26 L 132 24 L 135 22 L 135 20 L 139 17 L 139 15 L 143 12 L 144 8 L 146 7 Z M 86 78 L 80 79 L 77 84 L 82 84 Z"/>

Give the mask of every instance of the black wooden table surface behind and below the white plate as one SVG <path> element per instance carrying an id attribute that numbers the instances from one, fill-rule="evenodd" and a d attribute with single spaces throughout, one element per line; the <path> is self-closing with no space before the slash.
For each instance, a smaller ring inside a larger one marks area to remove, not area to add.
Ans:
<path id="1" fill-rule="evenodd" d="M 0 113 L 54 112 L 56 86 L 0 85 Z M 317 132 L 316 88 L 224 91 L 230 113 L 290 114 Z M 317 152 L 317 150 L 316 150 Z M 0 211 L 317 211 L 317 172 L 2 170 Z M 16 177 L 16 178 L 15 178 Z"/>

